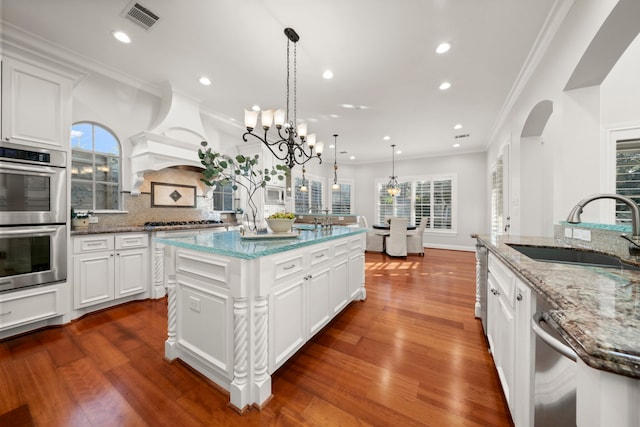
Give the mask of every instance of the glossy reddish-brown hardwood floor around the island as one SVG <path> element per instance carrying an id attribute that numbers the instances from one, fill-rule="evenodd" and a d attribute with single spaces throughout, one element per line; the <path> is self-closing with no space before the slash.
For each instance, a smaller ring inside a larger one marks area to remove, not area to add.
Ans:
<path id="1" fill-rule="evenodd" d="M 244 416 L 163 359 L 165 299 L 122 305 L 0 342 L 0 414 L 27 404 L 47 427 L 509 426 L 474 281 L 471 252 L 367 253 L 367 300 L 278 370 L 273 399 Z"/>

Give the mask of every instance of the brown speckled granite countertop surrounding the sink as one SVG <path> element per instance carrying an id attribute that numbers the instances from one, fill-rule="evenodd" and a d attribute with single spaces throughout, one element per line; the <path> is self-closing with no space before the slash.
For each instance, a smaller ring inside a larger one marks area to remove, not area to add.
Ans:
<path id="1" fill-rule="evenodd" d="M 474 237 L 549 302 L 544 318 L 587 365 L 640 379 L 640 272 L 535 261 L 507 245 L 567 246 L 551 237 Z"/>

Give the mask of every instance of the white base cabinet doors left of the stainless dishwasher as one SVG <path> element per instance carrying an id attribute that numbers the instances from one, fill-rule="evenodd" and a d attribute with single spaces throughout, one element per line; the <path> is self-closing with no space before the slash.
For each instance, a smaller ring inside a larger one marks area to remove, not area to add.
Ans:
<path id="1" fill-rule="evenodd" d="M 514 424 L 530 426 L 534 337 L 529 325 L 535 298 L 491 253 L 488 269 L 487 340 Z"/>

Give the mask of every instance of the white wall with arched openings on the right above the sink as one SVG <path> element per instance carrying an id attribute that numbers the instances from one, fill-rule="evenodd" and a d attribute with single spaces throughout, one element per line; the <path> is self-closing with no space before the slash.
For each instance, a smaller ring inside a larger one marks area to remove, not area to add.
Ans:
<path id="1" fill-rule="evenodd" d="M 602 86 L 564 91 L 612 9 L 618 3 L 625 6 L 632 2 L 569 0 L 564 3 L 571 5 L 570 9 L 561 20 L 552 22 L 539 40 L 540 55 L 529 64 L 532 74 L 518 88 L 519 93 L 511 100 L 512 107 L 487 150 L 489 167 L 495 162 L 502 141 L 510 135 L 521 134 L 531 109 L 545 99 L 553 102 L 554 111 L 542 135 L 544 150 L 538 153 L 544 160 L 536 160 L 539 163 L 536 173 L 532 173 L 534 166 L 528 163 L 531 147 L 523 145 L 529 142 L 512 138 L 514 234 L 534 231 L 539 225 L 541 234 L 550 235 L 553 224 L 564 221 L 577 201 L 605 190 L 602 187 L 602 174 L 605 173 L 601 147 L 603 127 L 611 123 L 640 122 L 640 87 L 635 79 L 640 62 L 637 40 Z M 618 66 L 624 70 L 618 70 Z M 536 189 L 537 184 L 532 182 L 536 179 L 543 180 L 542 188 Z M 544 209 L 536 211 L 536 218 L 531 217 L 531 211 L 519 210 L 520 206 L 537 205 Z M 598 222 L 606 209 L 606 204 L 602 205 L 599 209 L 585 210 L 583 220 Z M 487 209 L 490 210 L 490 206 Z"/>

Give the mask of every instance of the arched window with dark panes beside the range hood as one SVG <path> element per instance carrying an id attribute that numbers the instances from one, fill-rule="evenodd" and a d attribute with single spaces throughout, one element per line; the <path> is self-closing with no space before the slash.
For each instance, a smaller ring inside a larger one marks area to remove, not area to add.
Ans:
<path id="1" fill-rule="evenodd" d="M 78 210 L 120 210 L 120 142 L 91 122 L 71 127 L 71 206 Z"/>

